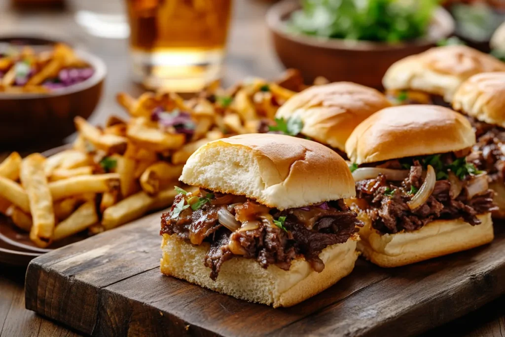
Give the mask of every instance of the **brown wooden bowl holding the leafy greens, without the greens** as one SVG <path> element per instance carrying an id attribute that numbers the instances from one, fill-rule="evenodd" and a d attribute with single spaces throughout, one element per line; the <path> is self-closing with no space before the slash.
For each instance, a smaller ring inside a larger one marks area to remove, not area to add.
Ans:
<path id="1" fill-rule="evenodd" d="M 443 8 L 437 9 L 427 37 L 409 43 L 380 43 L 318 38 L 289 33 L 286 20 L 299 3 L 285 0 L 267 13 L 275 51 L 287 68 L 301 71 L 307 83 L 317 76 L 330 81 L 351 81 L 378 89 L 382 76 L 394 62 L 424 52 L 454 31 L 454 21 Z"/>

